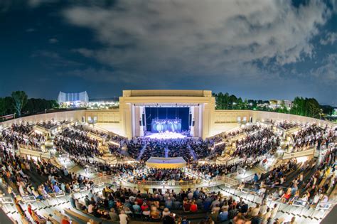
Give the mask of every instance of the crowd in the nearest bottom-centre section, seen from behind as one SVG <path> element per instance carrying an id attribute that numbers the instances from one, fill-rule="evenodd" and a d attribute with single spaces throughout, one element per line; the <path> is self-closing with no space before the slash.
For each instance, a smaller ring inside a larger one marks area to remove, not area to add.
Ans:
<path id="1" fill-rule="evenodd" d="M 157 221 L 167 224 L 189 223 L 188 215 L 203 214 L 200 223 L 281 223 L 275 218 L 277 204 L 268 208 L 266 201 L 249 206 L 243 198 L 235 200 L 223 196 L 220 192 L 206 193 L 203 188 L 187 191 L 161 191 L 153 193 L 127 188 L 113 190 L 106 186 L 102 193 L 90 191 L 85 198 L 70 198 L 71 206 L 76 210 L 93 215 L 96 218 L 128 223 L 132 218 L 144 221 Z M 294 221 L 295 219 L 292 218 Z M 294 222 L 293 222 L 294 223 Z"/>

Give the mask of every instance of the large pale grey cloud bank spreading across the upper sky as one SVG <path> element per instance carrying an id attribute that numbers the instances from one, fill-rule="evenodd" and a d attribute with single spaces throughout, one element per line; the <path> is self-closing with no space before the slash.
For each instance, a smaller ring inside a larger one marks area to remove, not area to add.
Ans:
<path id="1" fill-rule="evenodd" d="M 291 1 L 264 0 L 117 1 L 63 12 L 105 46 L 75 52 L 148 78 L 274 76 L 269 68 L 314 55 L 311 39 L 330 14 L 323 1 L 296 8 Z"/>

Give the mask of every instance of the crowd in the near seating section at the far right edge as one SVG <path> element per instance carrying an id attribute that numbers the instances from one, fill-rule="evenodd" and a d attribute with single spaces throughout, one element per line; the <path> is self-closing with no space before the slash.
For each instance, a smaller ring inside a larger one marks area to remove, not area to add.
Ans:
<path id="1" fill-rule="evenodd" d="M 289 159 L 263 176 L 255 174 L 252 190 L 261 197 L 269 195 L 282 203 L 315 208 L 318 203 L 328 202 L 328 195 L 336 186 L 335 162 L 336 149 L 327 151 L 321 161 L 313 158 L 299 163 Z M 245 185 L 242 183 L 239 188 Z"/>

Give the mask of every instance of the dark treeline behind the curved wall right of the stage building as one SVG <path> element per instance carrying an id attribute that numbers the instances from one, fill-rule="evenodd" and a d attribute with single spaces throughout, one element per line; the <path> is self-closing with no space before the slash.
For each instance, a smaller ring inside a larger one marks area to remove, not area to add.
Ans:
<path id="1" fill-rule="evenodd" d="M 216 110 L 263 110 L 296 114 L 306 117 L 321 118 L 322 114 L 331 114 L 333 107 L 321 106 L 314 98 L 295 97 L 291 107 L 282 100 L 277 107 L 270 107 L 269 100 L 242 100 L 241 97 L 229 95 L 227 92 L 213 93 Z"/>

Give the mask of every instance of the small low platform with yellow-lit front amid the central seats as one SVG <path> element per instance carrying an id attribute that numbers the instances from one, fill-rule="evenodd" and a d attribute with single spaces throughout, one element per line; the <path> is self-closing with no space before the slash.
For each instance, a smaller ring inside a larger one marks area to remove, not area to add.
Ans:
<path id="1" fill-rule="evenodd" d="M 176 169 L 186 166 L 186 161 L 183 159 L 183 157 L 165 158 L 151 156 L 145 164 L 146 166 L 157 169 Z"/>

